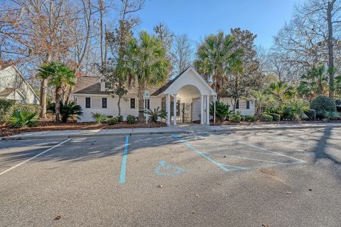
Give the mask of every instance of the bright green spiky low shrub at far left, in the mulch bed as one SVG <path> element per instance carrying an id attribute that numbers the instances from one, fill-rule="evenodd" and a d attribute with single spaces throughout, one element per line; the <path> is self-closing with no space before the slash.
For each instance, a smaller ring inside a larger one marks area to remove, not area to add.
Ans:
<path id="1" fill-rule="evenodd" d="M 38 113 L 30 113 L 28 111 L 14 111 L 9 121 L 12 128 L 37 126 Z"/>

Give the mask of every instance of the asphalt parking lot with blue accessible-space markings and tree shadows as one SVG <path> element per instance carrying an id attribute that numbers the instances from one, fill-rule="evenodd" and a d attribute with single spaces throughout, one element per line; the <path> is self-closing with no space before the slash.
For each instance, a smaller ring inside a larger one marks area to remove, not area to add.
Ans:
<path id="1" fill-rule="evenodd" d="M 0 141 L 0 226 L 340 226 L 341 128 Z"/>

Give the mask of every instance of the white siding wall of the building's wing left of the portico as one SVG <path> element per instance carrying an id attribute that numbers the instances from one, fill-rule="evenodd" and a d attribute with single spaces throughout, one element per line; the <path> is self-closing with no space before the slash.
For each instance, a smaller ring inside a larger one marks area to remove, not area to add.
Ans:
<path id="1" fill-rule="evenodd" d="M 118 116 L 119 109 L 117 107 L 118 97 L 112 98 L 112 96 L 93 96 L 93 95 L 77 95 L 74 94 L 77 99 L 77 104 L 82 106 L 83 116 L 80 116 L 79 122 L 88 122 L 94 121 L 92 119 L 92 113 L 100 113 L 109 116 Z M 85 98 L 90 97 L 91 99 L 91 108 L 85 108 Z M 107 108 L 102 108 L 102 98 L 107 98 Z M 130 99 L 135 99 L 135 108 L 130 108 Z M 133 115 L 139 116 L 139 100 L 137 96 L 124 96 L 121 99 L 121 115 L 126 119 L 126 116 Z M 151 97 L 150 108 L 156 109 L 160 106 L 161 109 L 161 99 Z"/>

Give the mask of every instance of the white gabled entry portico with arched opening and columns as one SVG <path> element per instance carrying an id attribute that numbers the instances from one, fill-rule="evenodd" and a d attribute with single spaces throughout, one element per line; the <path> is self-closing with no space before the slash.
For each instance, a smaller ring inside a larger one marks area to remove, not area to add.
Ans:
<path id="1" fill-rule="evenodd" d="M 186 118 L 186 121 L 200 120 L 200 124 L 210 124 L 210 97 L 213 95 L 217 95 L 216 92 L 193 67 L 188 67 L 152 94 L 166 98 L 167 125 L 171 125 L 172 115 L 173 125 L 176 125 L 177 116 L 181 114 L 183 122 Z"/>

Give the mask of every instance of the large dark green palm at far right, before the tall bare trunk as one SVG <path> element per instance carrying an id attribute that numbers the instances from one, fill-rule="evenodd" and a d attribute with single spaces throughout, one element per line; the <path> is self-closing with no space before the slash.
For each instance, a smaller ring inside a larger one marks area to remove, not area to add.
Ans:
<path id="1" fill-rule="evenodd" d="M 325 74 L 325 66 L 313 67 L 306 74 L 301 76 L 302 81 L 297 90 L 301 96 L 308 97 L 309 100 L 315 96 L 328 93 L 328 75 Z"/>

